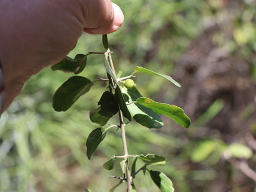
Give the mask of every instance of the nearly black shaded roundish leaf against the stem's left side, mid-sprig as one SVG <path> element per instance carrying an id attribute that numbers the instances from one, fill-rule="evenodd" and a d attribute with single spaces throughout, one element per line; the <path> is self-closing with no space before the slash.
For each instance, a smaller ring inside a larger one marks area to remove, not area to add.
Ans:
<path id="1" fill-rule="evenodd" d="M 101 99 L 99 99 L 98 105 L 101 105 L 101 110 L 99 111 L 99 114 L 104 117 L 112 117 L 115 115 L 118 110 L 118 102 L 116 101 L 116 98 L 110 91 L 105 91 Z"/>

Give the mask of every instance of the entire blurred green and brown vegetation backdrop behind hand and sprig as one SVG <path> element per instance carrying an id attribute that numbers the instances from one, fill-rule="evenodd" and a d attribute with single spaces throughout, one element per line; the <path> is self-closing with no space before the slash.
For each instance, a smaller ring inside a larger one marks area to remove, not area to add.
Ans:
<path id="1" fill-rule="evenodd" d="M 164 128 L 153 132 L 131 123 L 129 153 L 166 156 L 167 164 L 157 169 L 172 179 L 175 191 L 256 191 L 256 2 L 113 2 L 125 15 L 123 27 L 109 36 L 116 68 L 129 75 L 144 66 L 175 78 L 181 89 L 154 76 L 135 80 L 145 97 L 182 107 L 193 123 L 185 129 L 163 117 Z M 70 56 L 86 51 L 104 51 L 101 36 L 83 34 Z M 103 56 L 90 55 L 83 75 L 105 77 Z M 96 192 L 118 183 L 107 176 L 119 174 L 119 167 L 102 168 L 109 156 L 122 154 L 118 132 L 105 138 L 91 160 L 85 155 L 86 138 L 97 128 L 89 110 L 96 108 L 104 85 L 94 85 L 70 110 L 55 112 L 53 94 L 68 77 L 44 69 L 2 115 L 1 192 L 85 187 Z M 141 174 L 138 191 L 158 191 L 150 176 Z M 125 191 L 125 185 L 116 191 Z"/>

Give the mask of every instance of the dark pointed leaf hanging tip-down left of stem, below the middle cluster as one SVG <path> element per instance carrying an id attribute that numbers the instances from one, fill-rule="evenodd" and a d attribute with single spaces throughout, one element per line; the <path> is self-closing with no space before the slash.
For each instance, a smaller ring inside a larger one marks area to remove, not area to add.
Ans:
<path id="1" fill-rule="evenodd" d="M 105 132 L 106 128 L 96 128 L 94 129 L 88 136 L 86 141 L 87 151 L 86 154 L 88 159 L 91 158 L 94 151 L 96 151 L 99 143 L 103 141 L 106 137 L 107 132 Z"/>

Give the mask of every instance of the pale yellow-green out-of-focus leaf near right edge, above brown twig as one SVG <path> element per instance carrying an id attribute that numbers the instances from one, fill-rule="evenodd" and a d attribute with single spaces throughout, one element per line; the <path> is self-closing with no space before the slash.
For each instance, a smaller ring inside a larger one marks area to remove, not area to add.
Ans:
<path id="1" fill-rule="evenodd" d="M 253 151 L 246 145 L 241 143 L 232 143 L 228 146 L 224 153 L 229 153 L 233 158 L 249 159 L 253 156 Z"/>

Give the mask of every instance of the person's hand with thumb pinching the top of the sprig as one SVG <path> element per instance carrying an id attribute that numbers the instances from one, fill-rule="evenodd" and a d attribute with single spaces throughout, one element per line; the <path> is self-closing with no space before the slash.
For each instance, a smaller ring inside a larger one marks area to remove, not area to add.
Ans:
<path id="1" fill-rule="evenodd" d="M 0 10 L 4 110 L 24 82 L 68 54 L 83 31 L 112 33 L 124 20 L 109 0 L 1 0 Z"/>

